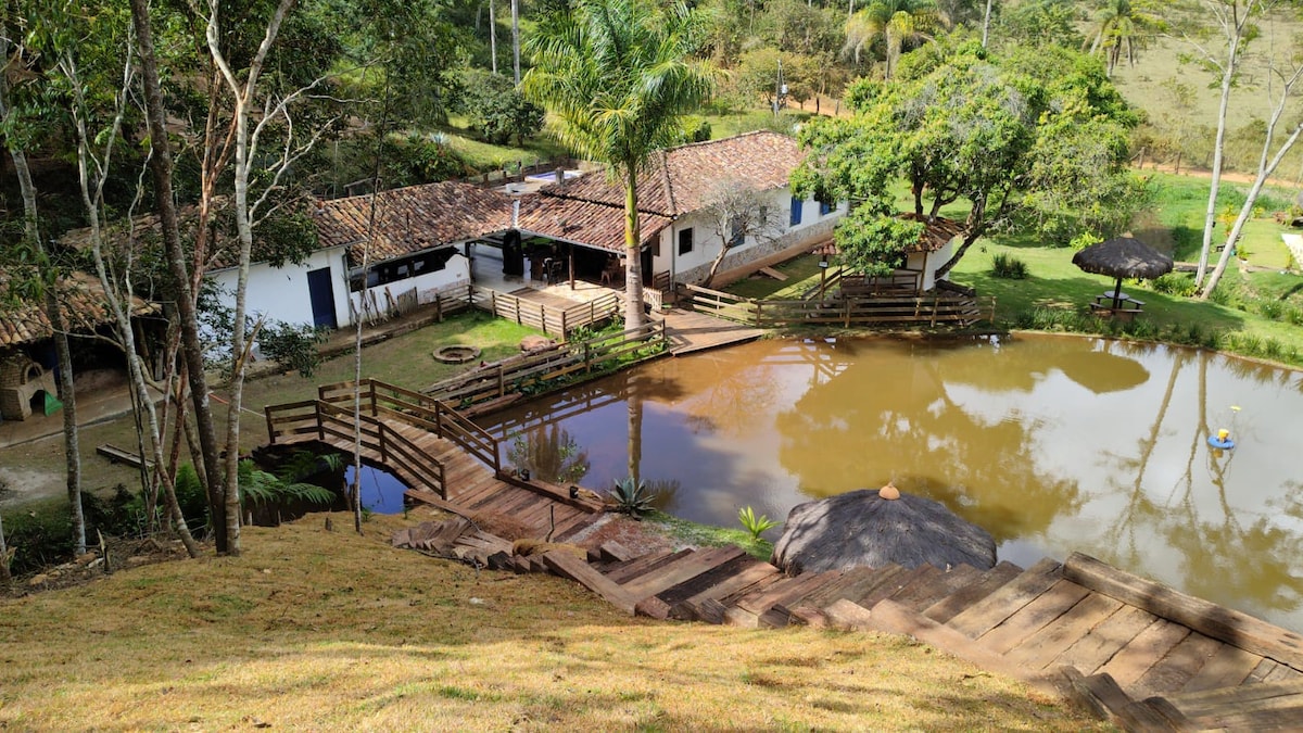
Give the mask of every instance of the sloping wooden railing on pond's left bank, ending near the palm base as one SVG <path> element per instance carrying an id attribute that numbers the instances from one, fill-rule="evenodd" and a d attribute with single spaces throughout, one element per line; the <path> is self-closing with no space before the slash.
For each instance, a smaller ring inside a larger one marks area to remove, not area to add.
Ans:
<path id="1" fill-rule="evenodd" d="M 663 321 L 585 340 L 521 353 L 495 364 L 464 372 L 421 390 L 429 399 L 456 404 L 460 410 L 506 398 L 539 393 L 577 373 L 602 372 L 622 363 L 663 352 Z"/>

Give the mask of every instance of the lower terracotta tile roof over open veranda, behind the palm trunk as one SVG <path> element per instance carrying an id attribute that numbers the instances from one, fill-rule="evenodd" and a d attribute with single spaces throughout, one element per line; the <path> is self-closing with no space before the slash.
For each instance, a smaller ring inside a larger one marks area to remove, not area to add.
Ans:
<path id="1" fill-rule="evenodd" d="M 672 219 L 642 214 L 642 244 L 653 241 Z M 607 206 L 533 194 L 520 200 L 519 228 L 552 239 L 624 253 L 624 206 Z"/>

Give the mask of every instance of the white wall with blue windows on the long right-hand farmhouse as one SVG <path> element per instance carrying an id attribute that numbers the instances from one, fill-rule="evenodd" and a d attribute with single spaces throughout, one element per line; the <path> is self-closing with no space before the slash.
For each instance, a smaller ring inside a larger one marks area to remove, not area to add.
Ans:
<path id="1" fill-rule="evenodd" d="M 747 262 L 761 260 L 769 254 L 787 249 L 801 240 L 823 236 L 831 231 L 833 223 L 846 215 L 848 205 L 839 203 L 827 214 L 820 215 L 818 201 L 809 200 L 801 202 L 801 222 L 790 226 L 792 194 L 788 188 L 764 192 L 762 197 L 779 224 L 779 231 L 770 233 L 762 243 L 748 236 L 747 241 L 732 248 L 721 265 L 721 271 L 740 267 Z M 692 228 L 692 252 L 679 256 L 679 232 Z M 679 283 L 701 282 L 710 271 L 710 263 L 719 254 L 723 240 L 715 232 L 714 218 L 704 211 L 684 214 L 666 227 L 661 237 L 661 254 L 653 263 L 657 273 L 671 270 L 674 280 Z M 777 236 L 775 236 L 777 235 Z M 671 262 L 672 258 L 672 262 Z"/>

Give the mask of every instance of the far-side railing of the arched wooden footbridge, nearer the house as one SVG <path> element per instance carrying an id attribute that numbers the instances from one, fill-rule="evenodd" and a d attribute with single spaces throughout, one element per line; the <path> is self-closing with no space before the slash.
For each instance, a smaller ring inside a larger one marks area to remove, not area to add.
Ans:
<path id="1" fill-rule="evenodd" d="M 348 412 L 352 413 L 354 383 L 349 381 L 323 385 L 317 393 L 321 402 L 347 404 Z M 370 410 L 371 417 L 383 417 L 429 430 L 482 460 L 493 468 L 495 476 L 502 473 L 498 438 L 438 399 L 378 380 L 362 380 L 361 404 L 364 412 Z"/>

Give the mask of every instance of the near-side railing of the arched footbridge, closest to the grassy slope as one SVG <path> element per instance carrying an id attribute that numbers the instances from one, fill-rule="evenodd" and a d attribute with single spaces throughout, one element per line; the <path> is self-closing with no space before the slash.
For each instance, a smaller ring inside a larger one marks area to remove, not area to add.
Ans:
<path id="1" fill-rule="evenodd" d="M 353 442 L 353 411 L 337 404 L 309 399 L 265 408 L 267 437 L 278 438 L 313 434 L 326 441 L 327 436 L 341 442 Z M 443 463 L 430 455 L 407 436 L 391 428 L 384 420 L 362 413 L 356 425 L 364 451 L 370 451 L 382 464 L 394 470 L 413 489 L 431 490 L 444 500 L 448 486 Z"/>

